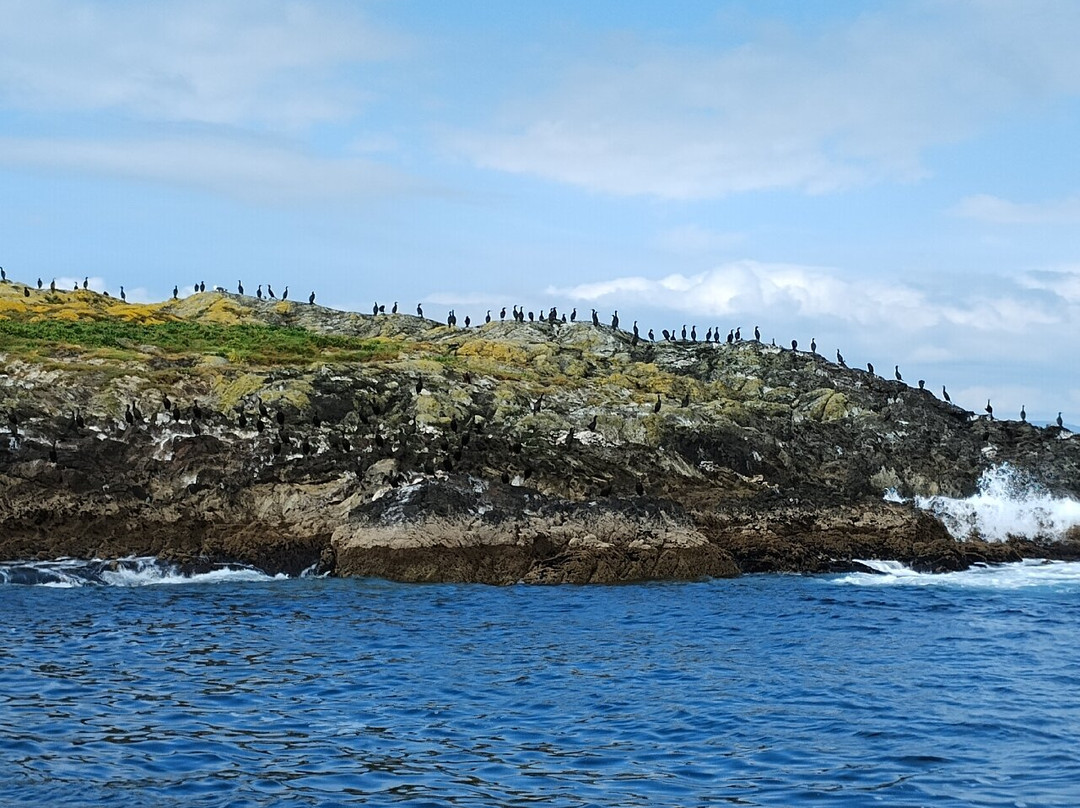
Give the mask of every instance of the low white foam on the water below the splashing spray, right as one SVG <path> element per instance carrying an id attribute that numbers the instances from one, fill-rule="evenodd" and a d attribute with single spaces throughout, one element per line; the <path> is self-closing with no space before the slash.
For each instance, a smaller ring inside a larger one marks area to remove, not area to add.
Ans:
<path id="1" fill-rule="evenodd" d="M 859 587 L 962 587 L 1014 590 L 1080 589 L 1080 562 L 1029 558 L 1014 564 L 976 564 L 956 573 L 917 573 L 895 561 L 859 561 L 868 573 L 849 573 L 833 583 Z"/>

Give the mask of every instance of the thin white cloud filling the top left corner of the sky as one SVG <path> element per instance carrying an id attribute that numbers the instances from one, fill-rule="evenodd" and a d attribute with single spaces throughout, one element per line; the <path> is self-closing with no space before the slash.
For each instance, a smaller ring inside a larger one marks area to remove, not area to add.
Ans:
<path id="1" fill-rule="evenodd" d="M 403 39 L 350 3 L 3 0 L 0 98 L 31 110 L 296 129 L 353 115 Z"/>

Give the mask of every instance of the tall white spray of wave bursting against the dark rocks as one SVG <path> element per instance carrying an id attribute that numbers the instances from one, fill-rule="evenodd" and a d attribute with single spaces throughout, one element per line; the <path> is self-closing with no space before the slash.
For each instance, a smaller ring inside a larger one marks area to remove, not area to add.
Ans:
<path id="1" fill-rule="evenodd" d="M 905 501 L 894 490 L 886 493 L 886 500 Z M 1080 525 L 1080 502 L 1053 496 L 1030 474 L 1010 463 L 984 471 L 976 493 L 970 497 L 915 497 L 914 503 L 937 516 L 960 540 L 1054 541 Z"/>

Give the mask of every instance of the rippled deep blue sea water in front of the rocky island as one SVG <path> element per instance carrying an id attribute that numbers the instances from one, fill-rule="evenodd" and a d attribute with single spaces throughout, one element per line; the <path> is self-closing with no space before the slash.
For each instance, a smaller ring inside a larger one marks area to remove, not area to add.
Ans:
<path id="1" fill-rule="evenodd" d="M 1076 806 L 1048 569 L 0 585 L 0 803 Z"/>

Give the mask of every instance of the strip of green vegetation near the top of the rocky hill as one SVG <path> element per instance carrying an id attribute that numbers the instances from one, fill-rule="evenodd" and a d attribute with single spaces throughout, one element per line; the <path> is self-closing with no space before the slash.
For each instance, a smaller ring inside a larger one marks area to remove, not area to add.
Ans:
<path id="1" fill-rule="evenodd" d="M 248 364 L 365 362 L 394 359 L 402 348 L 391 339 L 334 336 L 260 324 L 0 319 L 0 350 L 37 352 L 46 346 L 91 350 L 152 346 L 165 354 L 217 355 Z"/>

